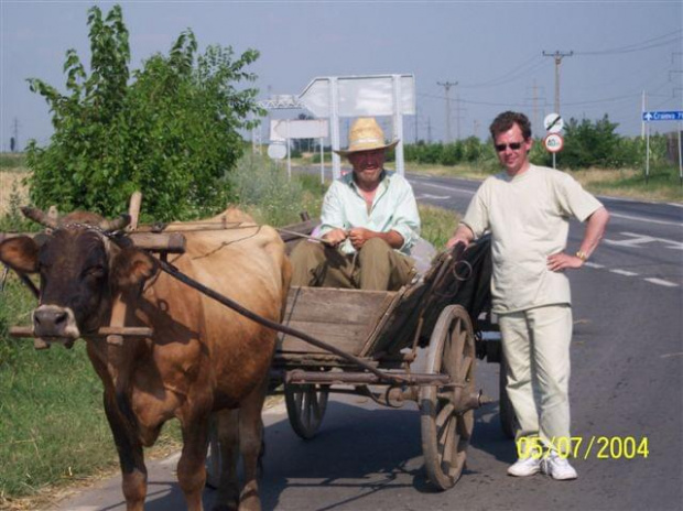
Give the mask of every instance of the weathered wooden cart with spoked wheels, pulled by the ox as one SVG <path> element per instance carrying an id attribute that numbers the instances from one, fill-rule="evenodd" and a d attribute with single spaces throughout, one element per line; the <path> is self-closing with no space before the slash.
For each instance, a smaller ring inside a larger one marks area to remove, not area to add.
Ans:
<path id="1" fill-rule="evenodd" d="M 285 231 L 306 233 L 307 227 Z M 498 338 L 479 334 L 495 329 L 489 252 L 488 240 L 465 253 L 456 247 L 395 292 L 292 287 L 283 324 L 335 348 L 330 352 L 291 335 L 280 337 L 271 392 L 284 394 L 294 432 L 305 439 L 315 436 L 330 392 L 366 395 L 390 407 L 414 401 L 429 480 L 436 489 L 452 488 L 465 466 L 474 409 L 488 402 L 475 388 L 476 360 L 500 361 Z M 421 350 L 426 363 L 415 372 Z M 209 460 L 210 483 L 217 472 L 212 463 L 219 460 Z"/>

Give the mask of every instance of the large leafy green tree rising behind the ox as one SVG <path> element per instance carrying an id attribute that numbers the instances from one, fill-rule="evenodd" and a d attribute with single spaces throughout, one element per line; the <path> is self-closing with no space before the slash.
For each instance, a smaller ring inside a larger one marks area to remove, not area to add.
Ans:
<path id="1" fill-rule="evenodd" d="M 230 47 L 212 45 L 199 54 L 186 30 L 169 55 L 151 56 L 131 77 L 121 8 L 102 18 L 93 7 L 88 26 L 89 74 L 69 50 L 66 94 L 29 80 L 50 105 L 54 126 L 46 148 L 29 145 L 32 200 L 110 216 L 141 189 L 147 218 L 183 219 L 224 208 L 225 178 L 243 151 L 239 130 L 253 126 L 250 113 L 260 113 L 257 90 L 236 88 L 256 79 L 246 67 L 258 52 L 236 57 Z"/>

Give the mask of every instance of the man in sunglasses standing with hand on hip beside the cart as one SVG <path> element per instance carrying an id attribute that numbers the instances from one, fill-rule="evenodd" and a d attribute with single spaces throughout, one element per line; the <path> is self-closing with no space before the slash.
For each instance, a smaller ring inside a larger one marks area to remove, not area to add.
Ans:
<path id="1" fill-rule="evenodd" d="M 507 390 L 520 430 L 522 455 L 510 476 L 539 471 L 576 479 L 566 449 L 570 433 L 572 308 L 564 273 L 578 269 L 597 248 L 609 214 L 568 174 L 529 162 L 531 124 L 523 113 L 500 113 L 490 126 L 505 172 L 475 194 L 448 247 L 491 232 L 492 311 L 498 314 Z M 568 218 L 586 221 L 583 240 L 566 253 Z M 534 399 L 535 395 L 535 399 Z M 542 450 L 541 450 L 542 449 Z"/>

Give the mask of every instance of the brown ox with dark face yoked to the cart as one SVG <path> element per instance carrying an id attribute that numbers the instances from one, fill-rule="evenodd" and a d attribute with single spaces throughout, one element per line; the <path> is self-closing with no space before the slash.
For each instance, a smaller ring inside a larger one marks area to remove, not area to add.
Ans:
<path id="1" fill-rule="evenodd" d="M 234 219 L 253 226 L 235 210 Z M 173 417 L 183 433 L 178 482 L 187 508 L 203 509 L 208 418 L 218 411 L 224 471 L 216 509 L 235 509 L 238 502 L 240 510 L 260 509 L 261 410 L 275 333 L 159 272 L 158 260 L 147 252 L 120 248 L 104 229 L 84 226 L 100 220 L 90 214 L 67 215 L 40 246 L 29 237 L 2 242 L 0 260 L 21 273 L 40 272 L 36 336 L 67 345 L 86 339 L 105 388 L 128 510 L 144 504 L 142 447 L 152 445 Z M 275 230 L 262 226 L 184 235 L 186 252 L 171 263 L 252 312 L 281 319 L 290 268 Z M 151 338 L 116 345 L 95 335 L 109 325 L 117 300 L 127 304 L 126 326 L 152 327 Z M 240 453 L 241 492 L 236 471 Z"/>

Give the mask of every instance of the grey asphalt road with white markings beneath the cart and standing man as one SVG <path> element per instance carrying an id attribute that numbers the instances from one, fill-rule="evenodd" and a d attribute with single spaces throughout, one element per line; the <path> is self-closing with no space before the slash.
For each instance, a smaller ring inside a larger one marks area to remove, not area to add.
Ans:
<path id="1" fill-rule="evenodd" d="M 420 200 L 460 213 L 478 186 L 409 177 Z M 344 396 L 330 401 L 310 442 L 294 435 L 283 406 L 265 413 L 263 509 L 683 509 L 683 208 L 600 199 L 611 213 L 606 239 L 586 267 L 570 273 L 572 422 L 573 435 L 582 439 L 576 481 L 506 476 L 514 445 L 502 436 L 497 406 L 490 405 L 476 413 L 460 481 L 434 492 L 422 468 L 415 406 L 386 410 Z M 572 225 L 570 250 L 578 247 L 582 232 L 581 225 Z M 497 398 L 498 366 L 479 362 L 477 384 Z M 647 457 L 642 449 L 632 452 L 633 442 L 647 443 Z M 184 509 L 176 461 L 177 456 L 150 464 L 148 510 Z M 207 509 L 214 496 L 205 492 Z M 123 510 L 120 478 L 54 509 Z"/>

